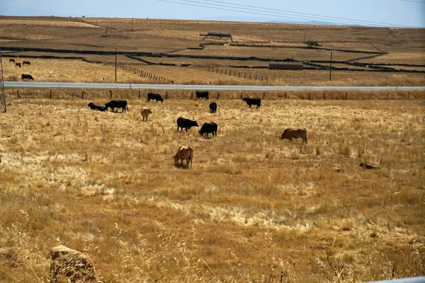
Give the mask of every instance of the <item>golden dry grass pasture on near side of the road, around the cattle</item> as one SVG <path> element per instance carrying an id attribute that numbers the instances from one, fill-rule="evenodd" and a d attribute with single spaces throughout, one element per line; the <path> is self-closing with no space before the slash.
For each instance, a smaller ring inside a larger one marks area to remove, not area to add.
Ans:
<path id="1" fill-rule="evenodd" d="M 0 281 L 45 282 L 57 244 L 106 282 L 337 281 L 327 253 L 349 282 L 425 274 L 423 100 L 216 100 L 214 115 L 205 100 L 130 99 L 123 114 L 89 101 L 108 99 L 8 96 Z M 177 132 L 179 116 L 218 136 Z M 308 144 L 280 141 L 285 127 Z M 193 168 L 173 164 L 182 144 Z"/>

